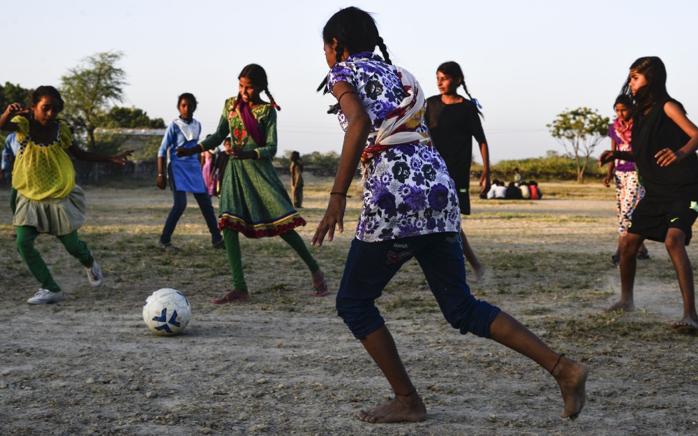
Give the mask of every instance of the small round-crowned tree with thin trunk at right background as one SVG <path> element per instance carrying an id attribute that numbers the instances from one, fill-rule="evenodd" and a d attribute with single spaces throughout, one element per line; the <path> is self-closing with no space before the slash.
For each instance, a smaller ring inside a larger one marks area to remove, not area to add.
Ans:
<path id="1" fill-rule="evenodd" d="M 578 183 L 584 182 L 589 157 L 605 138 L 610 122 L 609 117 L 602 117 L 596 110 L 577 108 L 560 113 L 551 124 L 547 124 L 551 136 L 565 147 L 570 157 L 574 157 Z"/>

